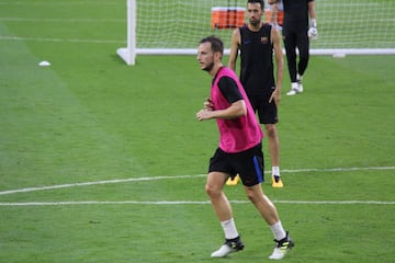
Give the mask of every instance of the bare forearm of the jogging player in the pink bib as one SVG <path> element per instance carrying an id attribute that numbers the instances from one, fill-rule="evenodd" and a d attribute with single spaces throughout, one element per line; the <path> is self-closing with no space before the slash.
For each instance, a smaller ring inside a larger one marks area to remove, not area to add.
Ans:
<path id="1" fill-rule="evenodd" d="M 232 103 L 228 108 L 225 110 L 201 110 L 196 113 L 196 118 L 199 121 L 206 121 L 211 118 L 224 118 L 232 119 L 245 116 L 247 114 L 246 102 L 244 100 L 236 101 Z"/>

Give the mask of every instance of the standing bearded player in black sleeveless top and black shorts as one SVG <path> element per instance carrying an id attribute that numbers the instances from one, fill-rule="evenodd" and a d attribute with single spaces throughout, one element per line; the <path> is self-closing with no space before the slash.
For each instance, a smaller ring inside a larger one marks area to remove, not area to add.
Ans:
<path id="1" fill-rule="evenodd" d="M 280 175 L 280 140 L 275 126 L 279 121 L 278 106 L 284 69 L 281 36 L 274 26 L 262 22 L 263 0 L 248 0 L 247 12 L 248 23 L 236 28 L 232 35 L 228 67 L 236 70 L 236 60 L 240 52 L 240 81 L 268 135 L 272 186 L 283 187 Z M 276 65 L 275 80 L 273 52 Z"/>

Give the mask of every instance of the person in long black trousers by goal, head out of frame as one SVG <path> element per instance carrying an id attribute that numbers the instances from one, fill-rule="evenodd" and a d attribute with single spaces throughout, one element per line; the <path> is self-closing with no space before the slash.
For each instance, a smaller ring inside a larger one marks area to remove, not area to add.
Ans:
<path id="1" fill-rule="evenodd" d="M 269 0 L 269 4 L 278 4 L 279 1 Z M 309 59 L 309 38 L 318 36 L 315 3 L 314 0 L 281 1 L 284 8 L 282 34 L 291 78 L 291 90 L 286 94 L 295 95 L 303 92 L 302 81 Z"/>

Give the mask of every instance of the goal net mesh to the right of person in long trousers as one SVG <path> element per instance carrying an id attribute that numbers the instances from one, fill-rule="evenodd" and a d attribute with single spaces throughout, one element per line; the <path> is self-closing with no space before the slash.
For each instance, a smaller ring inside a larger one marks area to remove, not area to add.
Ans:
<path id="1" fill-rule="evenodd" d="M 318 0 L 316 48 L 395 48 L 394 0 Z"/>

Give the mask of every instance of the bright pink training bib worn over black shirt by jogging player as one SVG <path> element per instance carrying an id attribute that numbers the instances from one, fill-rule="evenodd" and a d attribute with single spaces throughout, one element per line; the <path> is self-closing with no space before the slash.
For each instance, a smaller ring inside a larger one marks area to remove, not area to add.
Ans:
<path id="1" fill-rule="evenodd" d="M 235 80 L 247 106 L 247 114 L 245 116 L 233 119 L 216 119 L 219 129 L 219 148 L 225 152 L 235 153 L 248 150 L 260 144 L 263 133 L 239 79 L 234 71 L 225 67 L 218 70 L 212 83 L 211 100 L 213 101 L 214 108 L 225 110 L 230 106 L 230 103 L 227 102 L 218 88 L 219 79 L 225 76 Z"/>

